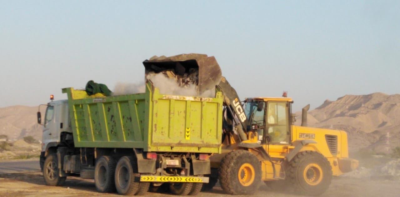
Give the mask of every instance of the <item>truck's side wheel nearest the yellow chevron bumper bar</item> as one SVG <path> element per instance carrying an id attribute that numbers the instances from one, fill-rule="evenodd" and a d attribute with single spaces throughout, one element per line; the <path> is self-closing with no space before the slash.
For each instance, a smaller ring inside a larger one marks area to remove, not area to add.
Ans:
<path id="1" fill-rule="evenodd" d="M 134 171 L 135 169 L 135 171 Z M 139 191 L 140 182 L 135 179 L 137 163 L 134 157 L 121 157 L 115 169 L 115 187 L 120 195 L 135 195 Z"/>

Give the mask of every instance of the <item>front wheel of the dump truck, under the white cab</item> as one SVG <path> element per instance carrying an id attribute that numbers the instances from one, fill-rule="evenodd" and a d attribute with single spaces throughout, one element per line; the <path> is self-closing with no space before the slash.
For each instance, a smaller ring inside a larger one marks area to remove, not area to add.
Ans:
<path id="1" fill-rule="evenodd" d="M 67 177 L 60 177 L 58 169 L 58 159 L 56 154 L 47 155 L 43 165 L 43 178 L 44 183 L 50 186 L 64 185 Z"/>

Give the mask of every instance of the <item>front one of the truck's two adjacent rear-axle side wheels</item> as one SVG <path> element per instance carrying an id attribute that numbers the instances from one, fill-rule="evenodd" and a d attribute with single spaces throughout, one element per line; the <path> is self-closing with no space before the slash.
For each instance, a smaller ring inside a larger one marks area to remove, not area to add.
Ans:
<path id="1" fill-rule="evenodd" d="M 98 192 L 110 193 L 115 191 L 115 165 L 115 160 L 110 156 L 102 156 L 96 161 L 94 185 L 96 185 Z"/>

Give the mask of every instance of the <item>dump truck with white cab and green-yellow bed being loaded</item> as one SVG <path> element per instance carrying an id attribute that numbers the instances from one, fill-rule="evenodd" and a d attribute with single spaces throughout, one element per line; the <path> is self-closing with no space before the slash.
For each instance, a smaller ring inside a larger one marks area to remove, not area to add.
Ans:
<path id="1" fill-rule="evenodd" d="M 193 63 L 193 62 L 191 62 Z M 104 96 L 63 88 L 67 100 L 47 103 L 40 167 L 46 185 L 66 177 L 94 179 L 97 191 L 142 195 L 167 183 L 175 195 L 196 195 L 221 153 L 222 92 L 213 97 L 144 93 Z M 39 106 L 40 109 L 40 106 Z"/>

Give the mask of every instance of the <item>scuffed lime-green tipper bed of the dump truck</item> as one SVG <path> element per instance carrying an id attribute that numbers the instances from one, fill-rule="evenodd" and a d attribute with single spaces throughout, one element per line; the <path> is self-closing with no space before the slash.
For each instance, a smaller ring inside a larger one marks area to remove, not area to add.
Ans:
<path id="1" fill-rule="evenodd" d="M 75 147 L 221 153 L 221 91 L 215 98 L 165 95 L 148 82 L 140 94 L 62 92 L 68 94 Z"/>

